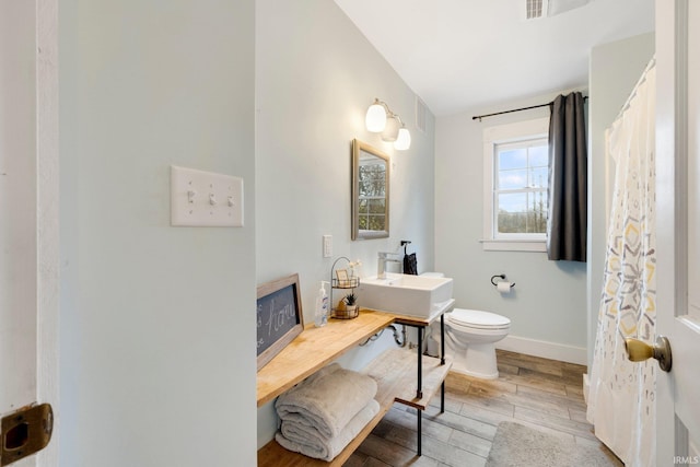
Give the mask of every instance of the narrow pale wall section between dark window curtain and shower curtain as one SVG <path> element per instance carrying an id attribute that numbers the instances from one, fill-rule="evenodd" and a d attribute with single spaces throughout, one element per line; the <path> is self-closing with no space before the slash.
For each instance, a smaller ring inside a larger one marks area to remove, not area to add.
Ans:
<path id="1" fill-rule="evenodd" d="M 615 167 L 606 161 L 605 130 L 615 121 L 646 63 L 654 55 L 654 34 L 642 34 L 591 50 L 588 101 L 588 197 L 597 209 L 588 213 L 588 365 L 593 362 L 598 308 L 603 292 L 605 249 Z"/>

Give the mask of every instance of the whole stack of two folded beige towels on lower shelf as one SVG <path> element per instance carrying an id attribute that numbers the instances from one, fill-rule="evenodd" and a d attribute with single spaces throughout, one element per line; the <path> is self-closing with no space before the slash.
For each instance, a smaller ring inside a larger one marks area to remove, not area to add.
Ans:
<path id="1" fill-rule="evenodd" d="M 281 395 L 276 440 L 284 448 L 331 460 L 380 411 L 376 382 L 328 365 Z"/>

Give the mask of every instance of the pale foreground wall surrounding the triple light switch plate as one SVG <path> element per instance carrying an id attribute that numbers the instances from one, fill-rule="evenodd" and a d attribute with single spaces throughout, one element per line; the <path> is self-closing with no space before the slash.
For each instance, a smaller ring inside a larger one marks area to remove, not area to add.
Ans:
<path id="1" fill-rule="evenodd" d="M 60 2 L 63 466 L 255 465 L 255 2 Z M 170 226 L 170 165 L 245 180 Z"/>

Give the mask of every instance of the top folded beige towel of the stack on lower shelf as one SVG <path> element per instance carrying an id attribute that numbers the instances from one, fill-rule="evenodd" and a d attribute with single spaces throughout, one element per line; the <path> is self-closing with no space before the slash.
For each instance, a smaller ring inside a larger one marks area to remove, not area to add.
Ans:
<path id="1" fill-rule="evenodd" d="M 334 363 L 282 394 L 275 404 L 282 421 L 314 427 L 326 439 L 337 436 L 376 395 L 370 376 Z"/>

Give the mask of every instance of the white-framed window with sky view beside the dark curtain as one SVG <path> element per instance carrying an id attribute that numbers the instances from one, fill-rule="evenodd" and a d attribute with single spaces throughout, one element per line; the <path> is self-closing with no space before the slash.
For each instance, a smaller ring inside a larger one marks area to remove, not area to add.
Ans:
<path id="1" fill-rule="evenodd" d="M 485 249 L 546 250 L 548 118 L 483 131 Z"/>

